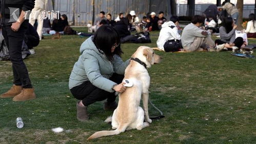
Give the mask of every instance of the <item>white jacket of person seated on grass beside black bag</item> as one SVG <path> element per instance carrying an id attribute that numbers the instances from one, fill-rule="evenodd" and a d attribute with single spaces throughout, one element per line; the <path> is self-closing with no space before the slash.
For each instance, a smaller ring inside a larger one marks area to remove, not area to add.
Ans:
<path id="1" fill-rule="evenodd" d="M 171 28 L 170 26 L 174 26 Z M 156 41 L 156 45 L 159 49 L 164 50 L 164 44 L 167 40 L 170 39 L 181 39 L 181 35 L 178 33 L 178 28 L 171 21 L 165 22 L 162 25 L 162 29 L 159 34 L 159 38 Z"/>

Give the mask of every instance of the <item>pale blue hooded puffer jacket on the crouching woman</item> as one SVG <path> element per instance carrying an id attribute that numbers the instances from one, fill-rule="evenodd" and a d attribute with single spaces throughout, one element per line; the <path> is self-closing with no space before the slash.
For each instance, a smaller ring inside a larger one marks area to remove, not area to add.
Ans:
<path id="1" fill-rule="evenodd" d="M 70 74 L 69 89 L 90 80 L 95 87 L 114 92 L 112 88 L 117 84 L 109 78 L 113 73 L 124 74 L 130 60 L 124 62 L 119 55 L 114 55 L 113 61 L 109 61 L 104 52 L 96 48 L 92 38 L 93 36 L 89 37 L 81 45 L 80 53 L 82 54 Z"/>

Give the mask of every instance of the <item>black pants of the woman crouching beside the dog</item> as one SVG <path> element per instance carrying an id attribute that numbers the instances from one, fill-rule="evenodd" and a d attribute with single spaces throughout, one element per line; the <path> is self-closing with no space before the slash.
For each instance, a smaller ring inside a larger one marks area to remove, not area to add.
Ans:
<path id="1" fill-rule="evenodd" d="M 110 78 L 116 84 L 122 83 L 124 75 L 114 73 Z M 107 99 L 108 102 L 115 101 L 115 92 L 107 92 L 100 88 L 97 88 L 91 84 L 91 82 L 85 81 L 83 84 L 70 89 L 72 95 L 79 100 L 82 100 L 85 106 L 89 106 L 96 101 L 102 101 Z"/>

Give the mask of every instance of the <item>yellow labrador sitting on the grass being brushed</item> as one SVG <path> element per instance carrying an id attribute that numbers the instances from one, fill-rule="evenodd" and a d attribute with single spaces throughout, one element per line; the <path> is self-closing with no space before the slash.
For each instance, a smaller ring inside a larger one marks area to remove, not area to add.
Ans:
<path id="1" fill-rule="evenodd" d="M 133 86 L 127 87 L 125 92 L 119 94 L 119 103 L 113 112 L 113 131 L 99 131 L 87 140 L 102 136 L 117 135 L 125 130 L 142 130 L 149 126 L 152 120 L 148 115 L 148 89 L 150 77 L 146 68 L 160 63 L 161 57 L 146 46 L 139 47 L 132 55 L 131 62 L 125 70 L 124 79 L 132 81 Z M 140 107 L 141 97 L 143 109 Z M 146 122 L 144 122 L 144 120 Z"/>

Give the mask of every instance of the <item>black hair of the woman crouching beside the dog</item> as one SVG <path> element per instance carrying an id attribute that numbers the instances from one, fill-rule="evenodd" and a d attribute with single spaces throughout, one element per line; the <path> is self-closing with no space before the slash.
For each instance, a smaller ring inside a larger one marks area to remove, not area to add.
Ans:
<path id="1" fill-rule="evenodd" d="M 102 50 L 109 61 L 113 60 L 113 55 L 121 56 L 123 51 L 120 47 L 120 37 L 114 28 L 108 25 L 103 25 L 94 34 L 93 43 L 97 49 Z M 114 45 L 119 45 L 111 53 L 111 48 Z"/>

